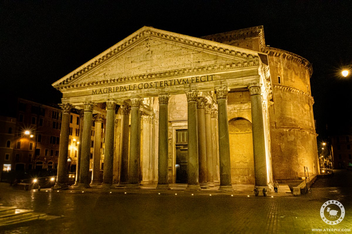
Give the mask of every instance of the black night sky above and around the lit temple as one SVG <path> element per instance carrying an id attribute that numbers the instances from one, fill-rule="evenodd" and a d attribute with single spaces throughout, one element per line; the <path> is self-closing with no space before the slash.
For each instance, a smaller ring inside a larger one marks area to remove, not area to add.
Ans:
<path id="1" fill-rule="evenodd" d="M 143 26 L 199 37 L 263 25 L 266 45 L 312 63 L 317 132 L 352 119 L 352 76 L 338 73 L 352 64 L 350 1 L 2 1 L 0 19 L 5 107 L 60 103 L 51 83 Z"/>

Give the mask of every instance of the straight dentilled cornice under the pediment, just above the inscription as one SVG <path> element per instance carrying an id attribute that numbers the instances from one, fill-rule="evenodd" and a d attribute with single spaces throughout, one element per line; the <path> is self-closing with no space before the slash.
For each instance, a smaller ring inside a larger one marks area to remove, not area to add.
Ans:
<path id="1" fill-rule="evenodd" d="M 71 89 L 90 88 L 90 87 L 97 87 L 97 86 L 110 86 L 110 85 L 118 85 L 122 83 L 148 81 L 148 80 L 155 80 L 155 79 L 162 79 L 162 78 L 169 78 L 169 77 L 189 76 L 189 75 L 196 75 L 196 74 L 203 74 L 203 73 L 215 73 L 218 71 L 227 71 L 227 70 L 232 70 L 237 68 L 246 68 L 246 67 L 253 67 L 253 66 L 259 66 L 259 58 L 254 58 L 251 60 L 233 61 L 229 63 L 221 63 L 221 64 L 214 64 L 214 65 L 208 65 L 208 66 L 170 70 L 166 72 L 147 73 L 147 74 L 140 74 L 140 75 L 133 75 L 133 76 L 122 76 L 122 77 L 117 77 L 113 79 L 96 80 L 96 81 L 77 83 L 72 85 L 70 84 L 57 85 L 55 86 L 55 88 L 57 88 L 59 91 L 66 91 Z"/>

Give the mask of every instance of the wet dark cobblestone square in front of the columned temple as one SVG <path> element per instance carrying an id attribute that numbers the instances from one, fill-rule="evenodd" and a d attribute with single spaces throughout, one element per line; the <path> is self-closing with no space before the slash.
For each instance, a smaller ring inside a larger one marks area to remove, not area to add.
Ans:
<path id="1" fill-rule="evenodd" d="M 0 233 L 350 233 L 312 228 L 352 229 L 351 181 L 351 172 L 337 170 L 331 178 L 319 178 L 307 195 L 273 198 L 176 190 L 82 193 L 1 187 L 0 203 L 5 206 L 62 217 L 9 226 Z M 328 200 L 345 207 L 345 218 L 337 225 L 320 218 L 320 207 Z"/>

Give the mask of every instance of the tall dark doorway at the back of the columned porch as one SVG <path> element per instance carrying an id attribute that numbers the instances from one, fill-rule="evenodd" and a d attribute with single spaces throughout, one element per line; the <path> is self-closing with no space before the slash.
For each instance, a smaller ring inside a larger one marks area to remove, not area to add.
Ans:
<path id="1" fill-rule="evenodd" d="M 176 183 L 187 183 L 187 129 L 176 130 Z"/>

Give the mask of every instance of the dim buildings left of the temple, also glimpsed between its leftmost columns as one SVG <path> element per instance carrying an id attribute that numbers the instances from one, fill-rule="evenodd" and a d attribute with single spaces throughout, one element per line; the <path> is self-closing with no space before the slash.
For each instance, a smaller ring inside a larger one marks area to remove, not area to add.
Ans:
<path id="1" fill-rule="evenodd" d="M 15 110 L 16 114 L 13 117 L 0 116 L 0 166 L 2 171 L 56 169 L 62 109 L 59 106 L 18 99 Z M 69 125 L 67 166 L 69 172 L 76 172 L 80 134 L 80 117 L 77 113 L 70 114 Z M 93 144 L 94 125 L 91 139 Z M 91 152 L 93 153 L 93 148 Z"/>

